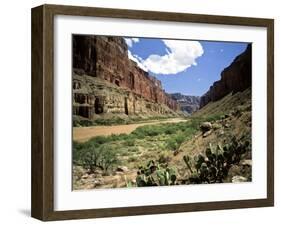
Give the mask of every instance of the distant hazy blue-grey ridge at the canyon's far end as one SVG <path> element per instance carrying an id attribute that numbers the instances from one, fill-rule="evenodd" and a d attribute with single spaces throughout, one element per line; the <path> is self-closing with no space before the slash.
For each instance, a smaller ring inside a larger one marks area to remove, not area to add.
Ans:
<path id="1" fill-rule="evenodd" d="M 181 93 L 172 93 L 170 96 L 178 102 L 181 111 L 186 114 L 192 114 L 197 111 L 200 106 L 199 96 L 188 96 Z"/>

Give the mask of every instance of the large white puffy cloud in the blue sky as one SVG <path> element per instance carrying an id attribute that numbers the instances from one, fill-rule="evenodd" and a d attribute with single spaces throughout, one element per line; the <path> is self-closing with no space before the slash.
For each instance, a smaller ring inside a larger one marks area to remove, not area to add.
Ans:
<path id="1" fill-rule="evenodd" d="M 152 54 L 141 63 L 155 74 L 177 74 L 196 65 L 196 58 L 204 53 L 198 41 L 162 40 L 166 45 L 165 55 Z"/>

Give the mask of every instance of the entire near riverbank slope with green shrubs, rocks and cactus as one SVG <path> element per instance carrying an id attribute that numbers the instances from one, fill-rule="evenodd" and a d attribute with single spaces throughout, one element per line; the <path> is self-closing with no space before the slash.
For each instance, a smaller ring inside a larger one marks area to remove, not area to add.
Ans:
<path id="1" fill-rule="evenodd" d="M 251 166 L 245 168 L 241 162 L 251 161 L 250 110 L 248 104 L 238 105 L 230 112 L 73 142 L 75 189 L 86 187 L 85 181 L 88 188 L 88 183 L 93 187 L 223 183 L 236 175 L 249 181 Z M 207 131 L 202 130 L 204 123 L 210 124 Z"/>

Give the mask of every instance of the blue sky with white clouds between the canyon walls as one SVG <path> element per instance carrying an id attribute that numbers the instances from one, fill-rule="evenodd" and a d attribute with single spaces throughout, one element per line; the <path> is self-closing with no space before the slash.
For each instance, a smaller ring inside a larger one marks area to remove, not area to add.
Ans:
<path id="1" fill-rule="evenodd" d="M 247 43 L 126 38 L 129 58 L 162 82 L 167 93 L 203 95 Z"/>

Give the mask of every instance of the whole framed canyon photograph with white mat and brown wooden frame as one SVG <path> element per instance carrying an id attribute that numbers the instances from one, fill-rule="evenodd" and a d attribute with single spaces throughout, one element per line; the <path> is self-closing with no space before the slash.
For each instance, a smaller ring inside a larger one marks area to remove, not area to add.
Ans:
<path id="1" fill-rule="evenodd" d="M 274 21 L 32 9 L 32 216 L 274 205 Z"/>

